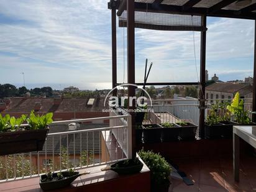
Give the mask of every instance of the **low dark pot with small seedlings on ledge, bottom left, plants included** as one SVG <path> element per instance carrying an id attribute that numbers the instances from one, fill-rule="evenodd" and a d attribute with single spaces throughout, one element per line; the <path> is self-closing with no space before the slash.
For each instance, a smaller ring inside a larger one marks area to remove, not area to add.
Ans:
<path id="1" fill-rule="evenodd" d="M 70 169 L 68 171 L 63 171 L 59 173 L 46 173 L 40 176 L 39 185 L 42 190 L 56 190 L 58 188 L 63 188 L 69 186 L 78 176 L 88 174 L 79 173 Z"/>

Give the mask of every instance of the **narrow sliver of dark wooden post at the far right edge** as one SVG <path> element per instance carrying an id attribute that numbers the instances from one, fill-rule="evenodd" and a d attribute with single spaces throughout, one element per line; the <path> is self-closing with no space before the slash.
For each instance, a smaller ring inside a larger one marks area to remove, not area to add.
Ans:
<path id="1" fill-rule="evenodd" d="M 252 111 L 256 111 L 256 20 L 254 22 L 254 91 L 252 96 Z M 252 114 L 252 122 L 256 122 L 256 114 Z"/>

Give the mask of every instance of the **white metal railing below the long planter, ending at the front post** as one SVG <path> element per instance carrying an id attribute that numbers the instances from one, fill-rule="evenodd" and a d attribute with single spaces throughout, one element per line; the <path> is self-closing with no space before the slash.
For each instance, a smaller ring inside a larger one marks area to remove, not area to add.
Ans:
<path id="1" fill-rule="evenodd" d="M 71 122 L 86 123 L 99 120 L 120 123 L 118 126 L 111 126 L 111 123 L 109 126 L 96 124 L 96 127 L 89 129 L 84 126 L 86 124 L 80 124 L 81 127 L 77 130 L 63 129 Z M 130 124 L 129 114 L 52 122 L 41 152 L 0 157 L 0 182 L 31 178 L 48 171 L 96 167 L 129 158 Z M 113 133 L 116 132 L 119 134 L 115 134 L 116 139 L 113 139 Z M 121 155 L 117 155 L 120 151 Z"/>

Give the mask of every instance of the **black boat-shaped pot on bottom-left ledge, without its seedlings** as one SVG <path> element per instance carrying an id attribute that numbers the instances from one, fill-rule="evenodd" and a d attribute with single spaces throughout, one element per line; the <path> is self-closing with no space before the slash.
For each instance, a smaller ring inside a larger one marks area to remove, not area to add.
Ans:
<path id="1" fill-rule="evenodd" d="M 52 173 L 53 178 L 57 177 L 58 173 Z M 41 175 L 40 176 L 40 181 L 39 181 L 39 185 L 40 188 L 42 188 L 42 190 L 56 190 L 59 188 L 63 188 L 66 186 L 70 186 L 70 184 L 75 181 L 76 178 L 78 178 L 78 176 L 84 175 L 85 173 L 79 173 L 79 172 L 74 172 L 73 176 L 70 176 L 70 172 L 69 171 L 63 171 L 62 175 L 64 176 L 64 178 L 62 180 L 52 180 L 52 181 L 45 181 L 43 182 L 42 180 L 44 178 L 47 178 L 47 175 Z"/>

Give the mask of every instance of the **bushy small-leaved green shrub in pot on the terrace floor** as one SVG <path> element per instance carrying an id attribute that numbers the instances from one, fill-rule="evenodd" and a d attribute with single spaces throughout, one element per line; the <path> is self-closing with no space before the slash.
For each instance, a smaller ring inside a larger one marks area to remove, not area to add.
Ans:
<path id="1" fill-rule="evenodd" d="M 145 152 L 140 150 L 138 154 L 150 169 L 152 191 L 168 191 L 171 167 L 165 158 L 159 153 L 153 153 L 152 151 Z"/>

